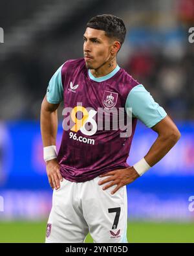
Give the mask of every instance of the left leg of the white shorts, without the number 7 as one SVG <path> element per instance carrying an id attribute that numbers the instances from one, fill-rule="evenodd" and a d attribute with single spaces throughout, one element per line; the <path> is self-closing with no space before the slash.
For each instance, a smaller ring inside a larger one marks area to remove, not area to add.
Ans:
<path id="1" fill-rule="evenodd" d="M 45 242 L 83 242 L 88 226 L 76 200 L 75 183 L 63 180 L 60 189 L 54 189 Z"/>

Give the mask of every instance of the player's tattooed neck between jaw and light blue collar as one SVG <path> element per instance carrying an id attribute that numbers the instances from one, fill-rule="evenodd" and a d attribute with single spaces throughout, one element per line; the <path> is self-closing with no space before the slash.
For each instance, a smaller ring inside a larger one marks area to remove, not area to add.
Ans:
<path id="1" fill-rule="evenodd" d="M 99 67 L 98 69 L 90 69 L 90 71 L 94 77 L 102 77 L 111 73 L 116 68 L 116 65 L 116 58 L 114 58 L 105 65 L 102 65 L 102 67 Z"/>

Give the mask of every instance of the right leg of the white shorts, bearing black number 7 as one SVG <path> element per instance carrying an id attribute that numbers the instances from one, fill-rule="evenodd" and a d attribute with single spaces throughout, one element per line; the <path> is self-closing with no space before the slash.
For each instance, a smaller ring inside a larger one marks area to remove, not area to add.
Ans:
<path id="1" fill-rule="evenodd" d="M 95 178 L 85 191 L 83 214 L 94 242 L 127 242 L 127 189 L 111 194 L 113 187 L 102 190 Z M 86 189 L 86 187 L 85 187 Z"/>

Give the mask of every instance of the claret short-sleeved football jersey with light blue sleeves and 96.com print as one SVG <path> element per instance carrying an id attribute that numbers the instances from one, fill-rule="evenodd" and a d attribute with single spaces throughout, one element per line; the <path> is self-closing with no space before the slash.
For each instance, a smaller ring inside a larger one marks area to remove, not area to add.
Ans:
<path id="1" fill-rule="evenodd" d="M 68 60 L 50 79 L 47 101 L 63 102 L 58 152 L 61 175 L 75 182 L 124 169 L 137 119 L 151 128 L 166 117 L 145 87 L 124 69 L 96 78 L 85 60 Z"/>

